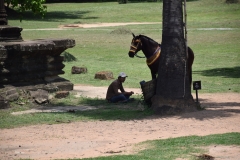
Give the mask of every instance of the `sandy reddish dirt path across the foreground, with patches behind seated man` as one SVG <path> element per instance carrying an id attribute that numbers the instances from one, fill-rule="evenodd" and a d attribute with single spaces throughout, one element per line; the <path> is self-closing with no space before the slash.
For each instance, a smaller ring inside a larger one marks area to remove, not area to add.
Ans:
<path id="1" fill-rule="evenodd" d="M 105 97 L 106 87 L 76 85 L 79 95 Z M 134 90 L 141 93 L 140 89 Z M 74 122 L 0 130 L 0 159 L 67 159 L 133 153 L 146 140 L 240 132 L 240 94 L 199 94 L 206 110 L 131 121 Z M 223 154 L 224 153 L 224 154 Z M 237 160 L 240 148 L 214 146 L 217 159 Z"/>

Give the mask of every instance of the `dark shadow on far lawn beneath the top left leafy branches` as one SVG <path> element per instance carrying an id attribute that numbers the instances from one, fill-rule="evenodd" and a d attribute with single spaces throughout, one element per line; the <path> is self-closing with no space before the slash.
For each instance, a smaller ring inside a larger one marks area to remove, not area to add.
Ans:
<path id="1" fill-rule="evenodd" d="M 39 15 L 34 15 L 30 11 L 26 11 L 22 14 L 23 20 L 28 21 L 65 21 L 64 19 L 97 19 L 98 17 L 84 17 L 85 14 L 89 13 L 90 11 L 54 11 L 54 12 L 47 12 L 44 18 L 41 18 Z M 21 15 L 16 12 L 10 12 L 8 14 L 9 20 L 19 20 Z"/>

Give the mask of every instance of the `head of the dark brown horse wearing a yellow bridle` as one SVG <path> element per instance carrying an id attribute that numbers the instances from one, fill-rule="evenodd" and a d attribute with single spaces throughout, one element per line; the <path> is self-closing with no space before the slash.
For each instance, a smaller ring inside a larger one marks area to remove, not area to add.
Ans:
<path id="1" fill-rule="evenodd" d="M 132 43 L 131 43 L 131 46 L 130 46 L 130 50 L 128 52 L 128 55 L 129 57 L 133 58 L 134 55 L 140 51 L 142 49 L 142 42 L 141 42 L 141 39 L 140 39 L 140 36 L 135 36 L 133 33 L 133 39 L 132 39 Z"/>

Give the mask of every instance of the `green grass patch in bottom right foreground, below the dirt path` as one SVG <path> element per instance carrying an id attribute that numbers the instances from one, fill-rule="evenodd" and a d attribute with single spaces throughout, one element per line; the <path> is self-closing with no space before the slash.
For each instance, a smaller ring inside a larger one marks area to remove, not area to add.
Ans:
<path id="1" fill-rule="evenodd" d="M 207 146 L 237 145 L 240 146 L 240 133 L 215 134 L 209 136 L 187 136 L 164 140 L 146 141 L 137 144 L 136 148 L 144 149 L 134 155 L 117 155 L 108 157 L 85 158 L 83 160 L 175 160 L 177 158 L 197 160 L 197 155 L 207 154 Z M 200 160 L 200 159 L 198 159 Z"/>

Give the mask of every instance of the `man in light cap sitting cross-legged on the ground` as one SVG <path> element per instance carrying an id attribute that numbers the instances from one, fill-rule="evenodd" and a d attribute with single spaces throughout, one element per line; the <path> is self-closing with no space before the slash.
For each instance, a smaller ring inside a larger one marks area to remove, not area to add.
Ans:
<path id="1" fill-rule="evenodd" d="M 118 79 L 114 80 L 108 87 L 106 99 L 109 102 L 128 102 L 133 100 L 133 98 L 129 98 L 134 92 L 126 92 L 123 88 L 122 83 L 125 81 L 127 75 L 123 72 L 119 73 Z M 121 92 L 118 91 L 120 89 Z"/>

